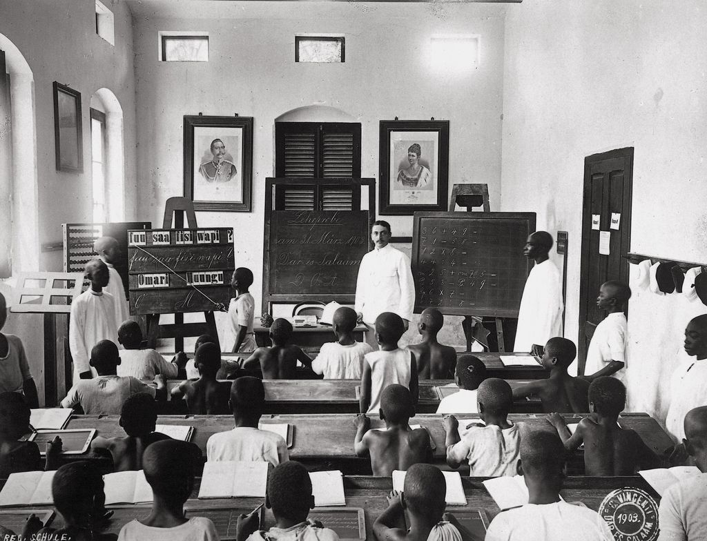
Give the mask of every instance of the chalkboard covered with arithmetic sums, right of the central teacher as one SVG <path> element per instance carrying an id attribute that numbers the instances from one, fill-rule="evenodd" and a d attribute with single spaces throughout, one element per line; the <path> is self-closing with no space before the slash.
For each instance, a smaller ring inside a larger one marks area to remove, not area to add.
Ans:
<path id="1" fill-rule="evenodd" d="M 415 311 L 518 317 L 535 213 L 415 213 Z"/>

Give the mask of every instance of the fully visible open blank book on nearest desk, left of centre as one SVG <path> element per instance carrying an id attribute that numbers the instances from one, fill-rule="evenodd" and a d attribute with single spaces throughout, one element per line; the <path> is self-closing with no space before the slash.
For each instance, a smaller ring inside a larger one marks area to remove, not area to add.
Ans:
<path id="1" fill-rule="evenodd" d="M 199 498 L 264 498 L 267 462 L 224 460 L 204 464 Z"/>

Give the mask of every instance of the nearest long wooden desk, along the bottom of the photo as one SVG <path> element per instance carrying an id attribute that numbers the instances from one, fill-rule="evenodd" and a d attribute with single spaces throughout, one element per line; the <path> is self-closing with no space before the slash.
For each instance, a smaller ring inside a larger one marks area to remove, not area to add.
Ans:
<path id="1" fill-rule="evenodd" d="M 489 520 L 493 518 L 500 512 L 496 502 L 493 501 L 489 493 L 486 492 L 484 485 L 481 484 L 487 477 L 462 477 L 462 485 L 464 487 L 464 494 L 467 497 L 467 504 L 464 506 L 448 506 L 447 512 L 456 514 L 457 518 L 462 518 L 465 513 L 473 513 L 478 509 L 483 509 L 486 511 Z M 187 500 L 185 504 L 185 509 L 187 509 L 187 516 L 199 516 L 199 510 L 204 509 L 223 509 L 227 513 L 228 509 L 236 509 L 243 511 L 255 509 L 259 504 L 262 504 L 263 498 L 235 498 L 235 499 L 209 499 L 209 500 L 199 500 L 196 499 L 199 493 L 199 482 L 194 486 L 194 491 L 192 492 L 192 499 Z M 657 493 L 653 491 L 648 483 L 643 480 L 642 477 L 568 477 L 565 480 L 564 488 L 561 491 L 562 497 L 566 501 L 582 501 L 586 506 L 594 511 L 598 511 L 600 504 L 604 497 L 612 492 L 612 490 L 619 487 L 632 487 L 642 489 L 648 492 L 658 503 L 660 497 Z M 360 477 L 360 476 L 346 476 L 344 477 L 344 494 L 346 496 L 346 506 L 347 507 L 359 507 L 364 510 L 364 515 L 366 517 L 366 539 L 375 540 L 373 535 L 373 522 L 375 521 L 380 513 L 387 508 L 387 501 L 385 496 L 392 489 L 392 480 L 390 477 Z M 12 508 L 8 508 L 12 509 Z M 32 509 L 50 509 L 50 506 L 32 506 Z M 115 510 L 115 515 L 112 521 L 105 530 L 107 533 L 119 533 L 122 526 L 132 521 L 134 518 L 143 518 L 149 514 L 149 505 L 135 505 L 135 506 L 109 506 L 109 509 Z M 204 513 L 206 514 L 206 513 Z M 234 513 L 237 515 L 237 513 Z M 317 517 L 317 509 L 310 511 L 310 517 Z M 233 520 L 233 519 L 232 519 Z M 52 523 L 53 528 L 61 528 L 64 525 L 62 516 L 57 513 L 54 522 Z M 264 513 L 264 523 L 262 528 L 267 530 L 274 525 L 274 516 L 270 509 L 266 509 Z M 326 523 L 324 524 L 327 525 Z M 229 530 L 235 530 L 235 524 L 233 528 Z M 222 534 L 222 540 L 233 539 L 230 535 L 223 535 L 226 533 L 226 529 L 220 532 Z M 465 540 L 466 541 L 466 540 Z M 482 537 L 472 538 L 472 541 L 483 541 Z"/>

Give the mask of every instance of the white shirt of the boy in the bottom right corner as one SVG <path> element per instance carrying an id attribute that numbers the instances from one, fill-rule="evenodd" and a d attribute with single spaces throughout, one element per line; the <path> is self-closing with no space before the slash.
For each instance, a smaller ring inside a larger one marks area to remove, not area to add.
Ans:
<path id="1" fill-rule="evenodd" d="M 707 473 L 668 487 L 660 500 L 658 541 L 707 539 Z"/>

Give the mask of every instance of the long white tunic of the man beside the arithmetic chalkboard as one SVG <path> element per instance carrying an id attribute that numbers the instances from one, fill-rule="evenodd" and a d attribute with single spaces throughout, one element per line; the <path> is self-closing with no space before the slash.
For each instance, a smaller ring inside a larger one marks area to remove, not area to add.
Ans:
<path id="1" fill-rule="evenodd" d="M 528 275 L 518 310 L 513 351 L 530 352 L 533 344 L 544 346 L 561 335 L 562 280 L 555 263 L 547 259 Z"/>

